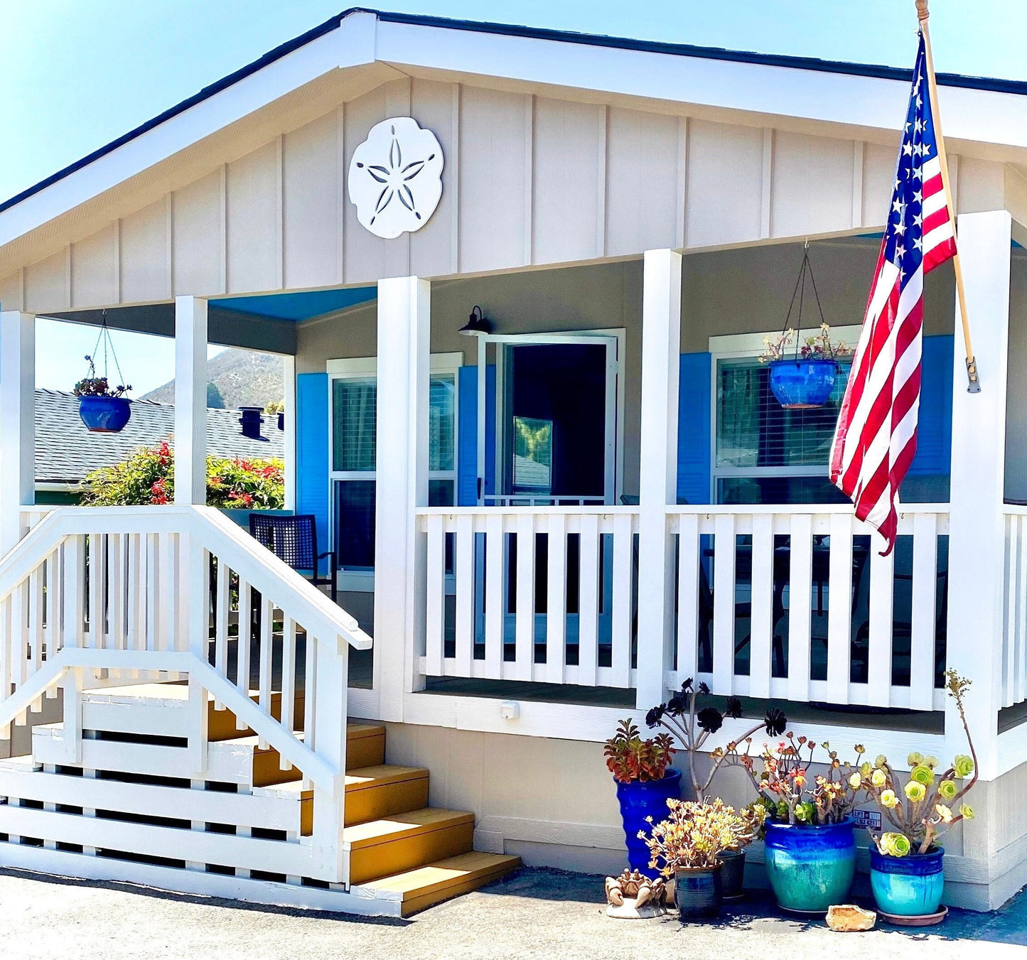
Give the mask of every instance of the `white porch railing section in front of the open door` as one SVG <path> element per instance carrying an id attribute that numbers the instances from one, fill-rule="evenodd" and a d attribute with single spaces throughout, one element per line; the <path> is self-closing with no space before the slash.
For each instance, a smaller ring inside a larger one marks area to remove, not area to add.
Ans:
<path id="1" fill-rule="evenodd" d="M 430 507 L 429 677 L 634 686 L 638 510 Z"/>

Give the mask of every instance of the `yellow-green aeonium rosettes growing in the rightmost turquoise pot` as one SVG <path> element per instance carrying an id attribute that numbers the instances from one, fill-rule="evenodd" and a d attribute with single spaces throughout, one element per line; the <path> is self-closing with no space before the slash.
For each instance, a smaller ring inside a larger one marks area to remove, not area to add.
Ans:
<path id="1" fill-rule="evenodd" d="M 879 835 L 870 832 L 874 845 L 888 856 L 928 853 L 954 823 L 974 818 L 974 808 L 961 802 L 977 782 L 977 752 L 963 711 L 963 696 L 971 682 L 953 669 L 946 670 L 945 679 L 946 690 L 956 702 L 971 756 L 960 754 L 951 766 L 939 771 L 937 758 L 910 754 L 909 779 L 903 786 L 883 756 L 873 764 L 864 763 L 858 774 L 863 789 L 880 808 L 882 818 L 895 828 Z M 971 779 L 964 783 L 966 777 Z"/>

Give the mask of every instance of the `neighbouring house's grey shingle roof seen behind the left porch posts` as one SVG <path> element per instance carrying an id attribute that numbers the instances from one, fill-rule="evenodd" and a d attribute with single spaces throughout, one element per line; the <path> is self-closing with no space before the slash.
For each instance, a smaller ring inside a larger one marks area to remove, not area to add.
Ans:
<path id="1" fill-rule="evenodd" d="M 132 400 L 131 419 L 120 433 L 90 433 L 78 416 L 77 396 L 36 390 L 36 483 L 78 484 L 90 470 L 121 463 L 140 447 L 172 441 L 174 432 L 173 404 Z M 277 418 L 265 416 L 261 433 L 262 439 L 243 436 L 237 410 L 207 409 L 211 456 L 280 459 L 286 440 Z"/>

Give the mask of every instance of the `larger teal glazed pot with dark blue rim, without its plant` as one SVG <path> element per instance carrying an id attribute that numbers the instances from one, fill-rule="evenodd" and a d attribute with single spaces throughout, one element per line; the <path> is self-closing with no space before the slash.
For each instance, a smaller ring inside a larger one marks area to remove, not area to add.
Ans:
<path id="1" fill-rule="evenodd" d="M 767 877 L 777 906 L 796 913 L 825 913 L 844 904 L 855 876 L 851 817 L 823 827 L 766 824 Z"/>

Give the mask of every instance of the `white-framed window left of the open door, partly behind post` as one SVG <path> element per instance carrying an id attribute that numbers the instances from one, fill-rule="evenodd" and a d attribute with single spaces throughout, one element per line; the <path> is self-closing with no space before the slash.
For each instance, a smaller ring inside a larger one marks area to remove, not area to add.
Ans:
<path id="1" fill-rule="evenodd" d="M 456 492 L 457 370 L 460 353 L 434 354 L 428 386 L 428 502 L 451 506 Z M 374 357 L 330 360 L 332 528 L 339 566 L 375 566 L 378 380 Z M 350 588 L 353 588 L 352 586 Z"/>

